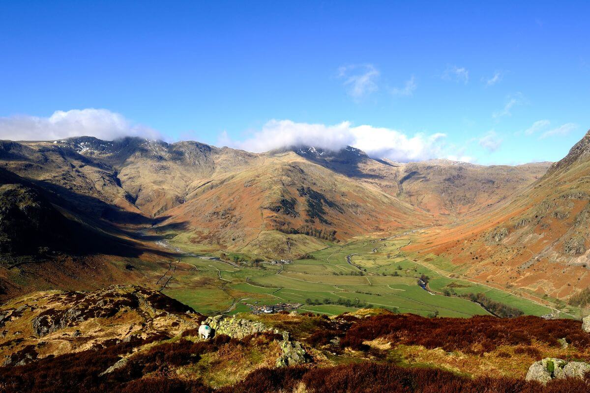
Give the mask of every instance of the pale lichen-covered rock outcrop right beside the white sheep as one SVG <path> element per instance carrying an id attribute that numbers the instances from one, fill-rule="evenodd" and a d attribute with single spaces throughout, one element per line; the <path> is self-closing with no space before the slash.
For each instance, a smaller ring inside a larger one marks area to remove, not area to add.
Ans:
<path id="1" fill-rule="evenodd" d="M 216 315 L 207 318 L 204 323 L 211 326 L 214 334 L 225 334 L 232 338 L 244 338 L 247 335 L 262 332 L 281 334 L 283 336 L 281 341 L 283 354 L 277 358 L 277 367 L 306 363 L 310 359 L 303 345 L 299 341 L 291 340 L 289 332 L 280 332 L 277 329 L 269 328 L 262 322 L 248 321 L 248 319 L 235 318 L 235 316 L 225 318 L 223 315 Z"/>

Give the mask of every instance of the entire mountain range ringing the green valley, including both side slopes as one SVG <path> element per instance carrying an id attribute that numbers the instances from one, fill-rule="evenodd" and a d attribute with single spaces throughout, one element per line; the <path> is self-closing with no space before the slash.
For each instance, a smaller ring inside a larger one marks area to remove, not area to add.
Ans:
<path id="1" fill-rule="evenodd" d="M 104 261 L 166 255 L 154 239 L 293 259 L 326 241 L 421 229 L 408 250 L 448 257 L 473 278 L 568 298 L 590 284 L 589 140 L 558 163 L 518 166 L 396 163 L 353 147 L 1 141 L 2 290 L 55 286 L 55 274 L 85 287 L 80 265 L 91 261 L 100 261 L 98 282 L 141 282 L 142 273 Z M 23 261 L 58 272 L 15 273 Z"/>

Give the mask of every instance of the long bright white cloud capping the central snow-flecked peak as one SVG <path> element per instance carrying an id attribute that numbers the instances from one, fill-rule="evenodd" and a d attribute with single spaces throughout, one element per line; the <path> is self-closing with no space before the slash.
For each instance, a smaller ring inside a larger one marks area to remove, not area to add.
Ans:
<path id="1" fill-rule="evenodd" d="M 353 127 L 348 121 L 326 126 L 295 123 L 291 120 L 271 120 L 250 138 L 236 141 L 224 133 L 219 143 L 258 153 L 283 147 L 313 146 L 337 151 L 346 146 L 353 146 L 373 158 L 389 158 L 402 162 L 450 157 L 446 153 L 445 134 L 418 133 L 408 136 L 401 131 L 385 127 Z"/>

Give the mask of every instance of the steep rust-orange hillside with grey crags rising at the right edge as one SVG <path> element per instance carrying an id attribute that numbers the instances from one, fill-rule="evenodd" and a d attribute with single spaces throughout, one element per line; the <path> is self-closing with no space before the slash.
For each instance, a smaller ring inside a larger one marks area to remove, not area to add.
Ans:
<path id="1" fill-rule="evenodd" d="M 545 176 L 474 219 L 428 230 L 408 250 L 465 275 L 566 299 L 590 285 L 590 133 Z"/>

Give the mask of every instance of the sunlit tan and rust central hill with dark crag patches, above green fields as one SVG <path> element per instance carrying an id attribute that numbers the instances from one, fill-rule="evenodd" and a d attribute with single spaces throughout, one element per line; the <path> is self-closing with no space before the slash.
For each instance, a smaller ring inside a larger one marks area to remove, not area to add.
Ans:
<path id="1" fill-rule="evenodd" d="M 162 226 L 195 229 L 193 242 L 219 240 L 234 249 L 259 243 L 261 232 L 271 230 L 335 241 L 434 222 L 378 186 L 293 152 L 268 154 L 260 166 L 215 177 L 166 216 Z M 280 249 L 289 254 L 286 244 Z"/>

